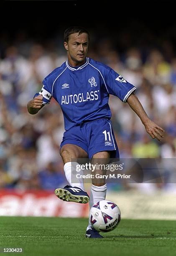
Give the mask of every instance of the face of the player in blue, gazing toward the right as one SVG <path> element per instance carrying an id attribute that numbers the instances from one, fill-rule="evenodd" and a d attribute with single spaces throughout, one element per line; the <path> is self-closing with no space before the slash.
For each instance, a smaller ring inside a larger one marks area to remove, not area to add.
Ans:
<path id="1" fill-rule="evenodd" d="M 71 34 L 68 43 L 64 42 L 67 50 L 69 64 L 72 67 L 84 64 L 88 51 L 88 35 L 87 33 Z"/>

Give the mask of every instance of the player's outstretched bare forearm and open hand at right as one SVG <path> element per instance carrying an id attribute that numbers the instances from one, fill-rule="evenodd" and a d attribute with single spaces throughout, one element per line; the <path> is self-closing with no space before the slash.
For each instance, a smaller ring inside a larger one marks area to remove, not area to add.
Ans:
<path id="1" fill-rule="evenodd" d="M 161 138 L 163 138 L 163 134 L 161 133 L 161 131 L 164 132 L 163 128 L 161 128 L 152 120 L 150 120 L 150 118 L 148 118 L 148 115 L 145 113 L 143 106 L 138 100 L 138 97 L 132 93 L 128 97 L 127 102 L 130 105 L 130 108 L 132 108 L 134 112 L 139 116 L 140 120 L 145 126 L 145 130 L 147 131 L 147 133 L 150 134 L 153 139 L 157 138 L 158 141 L 161 141 Z"/>

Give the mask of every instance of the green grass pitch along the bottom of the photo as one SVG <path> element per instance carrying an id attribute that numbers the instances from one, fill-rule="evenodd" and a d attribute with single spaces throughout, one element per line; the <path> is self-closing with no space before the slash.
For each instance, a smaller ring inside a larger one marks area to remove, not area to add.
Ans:
<path id="1" fill-rule="evenodd" d="M 85 238 L 87 219 L 0 217 L 0 255 L 175 256 L 176 221 L 121 220 L 104 239 Z M 2 253 L 23 248 L 23 253 Z"/>

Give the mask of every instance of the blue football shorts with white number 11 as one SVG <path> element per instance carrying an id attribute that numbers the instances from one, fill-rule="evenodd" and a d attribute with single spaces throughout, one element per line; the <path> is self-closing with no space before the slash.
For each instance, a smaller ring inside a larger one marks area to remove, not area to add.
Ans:
<path id="1" fill-rule="evenodd" d="M 101 151 L 112 151 L 110 157 L 119 159 L 111 121 L 106 118 L 86 121 L 65 131 L 61 147 L 65 144 L 74 144 L 83 148 L 89 159 Z"/>

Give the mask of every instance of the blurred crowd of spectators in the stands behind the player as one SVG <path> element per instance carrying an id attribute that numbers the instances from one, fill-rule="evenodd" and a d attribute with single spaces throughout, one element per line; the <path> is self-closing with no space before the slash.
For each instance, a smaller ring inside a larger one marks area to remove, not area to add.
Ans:
<path id="1" fill-rule="evenodd" d="M 90 32 L 88 56 L 112 67 L 137 87 L 136 95 L 148 116 L 164 128 L 161 142 L 146 133 L 128 103 L 110 96 L 112 123 L 121 158 L 176 158 L 176 35 L 164 35 L 133 21 L 131 27 L 102 33 L 100 24 Z M 44 35 L 36 24 L 29 29 L 0 33 L 0 188 L 55 189 L 66 185 L 59 147 L 64 123 L 52 99 L 37 115 L 27 102 L 42 87 L 43 78 L 67 60 L 63 31 Z M 37 33 L 38 31 L 39 33 Z M 46 36 L 46 38 L 45 38 Z M 169 169 L 172 175 L 172 168 Z M 171 181 L 171 177 L 170 177 Z M 175 185 L 175 184 L 173 184 Z M 172 185 L 172 186 L 173 186 Z M 130 184 L 109 184 L 130 189 Z M 167 184 L 153 184 L 167 189 Z"/>

